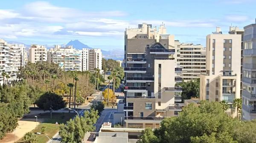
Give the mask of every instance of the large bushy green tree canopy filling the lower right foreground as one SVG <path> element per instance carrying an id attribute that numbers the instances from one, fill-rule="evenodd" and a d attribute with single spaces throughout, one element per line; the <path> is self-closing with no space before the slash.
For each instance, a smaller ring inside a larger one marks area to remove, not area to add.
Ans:
<path id="1" fill-rule="evenodd" d="M 146 129 L 137 143 L 255 143 L 255 129 L 255 121 L 240 123 L 220 103 L 201 101 L 199 107 L 184 107 L 178 117 L 165 118 L 159 129 Z"/>

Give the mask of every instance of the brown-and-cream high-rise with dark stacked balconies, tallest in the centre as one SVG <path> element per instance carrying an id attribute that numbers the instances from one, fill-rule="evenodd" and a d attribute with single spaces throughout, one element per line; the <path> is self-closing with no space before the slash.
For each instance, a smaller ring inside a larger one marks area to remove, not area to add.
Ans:
<path id="1" fill-rule="evenodd" d="M 159 127 L 163 118 L 181 111 L 175 103 L 181 101 L 182 92 L 175 83 L 182 79 L 176 76 L 181 68 L 172 58 L 174 46 L 174 36 L 166 34 L 164 25 L 158 31 L 146 23 L 126 28 L 125 100 L 117 109 L 124 114 L 126 126 Z"/>

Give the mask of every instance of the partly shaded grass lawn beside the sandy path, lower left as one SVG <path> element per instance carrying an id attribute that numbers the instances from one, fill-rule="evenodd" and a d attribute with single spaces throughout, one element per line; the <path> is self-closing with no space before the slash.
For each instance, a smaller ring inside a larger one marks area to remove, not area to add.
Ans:
<path id="1" fill-rule="evenodd" d="M 50 119 L 50 115 L 49 113 L 43 113 L 43 114 L 39 114 L 37 115 L 38 118 L 45 118 L 46 121 L 44 121 L 43 123 L 40 123 L 38 125 L 38 129 L 34 129 L 32 132 L 41 132 L 41 127 L 42 126 L 46 126 L 46 135 L 49 138 L 52 138 L 52 136 L 54 136 L 58 131 L 59 131 L 59 125 L 60 123 L 66 123 L 67 121 L 70 120 L 70 118 L 74 117 L 76 115 L 76 113 L 52 113 L 52 119 Z M 35 117 L 34 117 L 35 118 Z M 58 122 L 58 125 L 56 125 L 55 123 Z M 45 135 L 37 135 L 38 138 L 38 143 L 47 143 L 47 141 L 49 140 Z M 21 138 L 20 140 L 17 141 L 17 143 L 25 143 L 25 140 L 23 138 Z"/>

